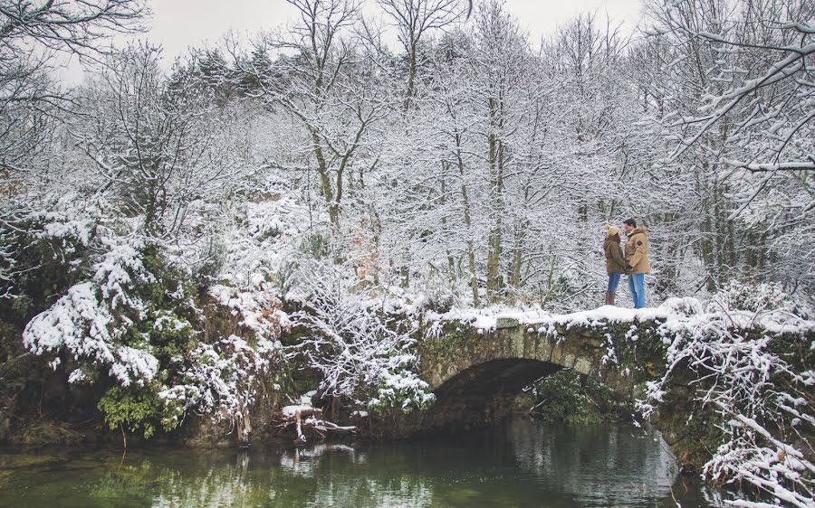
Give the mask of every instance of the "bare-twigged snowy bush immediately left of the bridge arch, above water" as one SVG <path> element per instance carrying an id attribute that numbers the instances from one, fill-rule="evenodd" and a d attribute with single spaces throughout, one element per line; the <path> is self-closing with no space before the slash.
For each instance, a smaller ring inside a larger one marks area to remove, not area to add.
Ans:
<path id="1" fill-rule="evenodd" d="M 310 332 L 292 349 L 322 374 L 323 393 L 378 411 L 425 408 L 434 400 L 414 371 L 410 325 L 383 311 L 383 301 L 360 287 L 350 269 L 313 264 L 302 279 L 311 289 L 296 316 Z"/>

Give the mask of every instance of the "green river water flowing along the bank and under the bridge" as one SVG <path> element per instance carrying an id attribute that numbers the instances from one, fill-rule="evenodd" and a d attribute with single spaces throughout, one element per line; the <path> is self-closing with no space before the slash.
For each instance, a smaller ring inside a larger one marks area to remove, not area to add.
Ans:
<path id="1" fill-rule="evenodd" d="M 715 506 L 661 437 L 511 419 L 389 443 L 0 453 L 2 506 Z"/>

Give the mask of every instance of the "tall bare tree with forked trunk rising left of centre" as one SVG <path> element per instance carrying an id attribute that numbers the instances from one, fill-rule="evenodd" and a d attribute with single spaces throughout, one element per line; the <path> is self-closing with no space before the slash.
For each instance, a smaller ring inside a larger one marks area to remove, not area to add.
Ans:
<path id="1" fill-rule="evenodd" d="M 361 154 L 372 127 L 387 114 L 389 94 L 377 86 L 377 55 L 349 39 L 358 0 L 289 1 L 300 20 L 288 33 L 267 34 L 255 49 L 279 57 L 263 69 L 249 59 L 242 65 L 259 77 L 258 95 L 267 105 L 283 108 L 305 129 L 319 191 L 337 229 L 350 173 L 365 164 Z"/>

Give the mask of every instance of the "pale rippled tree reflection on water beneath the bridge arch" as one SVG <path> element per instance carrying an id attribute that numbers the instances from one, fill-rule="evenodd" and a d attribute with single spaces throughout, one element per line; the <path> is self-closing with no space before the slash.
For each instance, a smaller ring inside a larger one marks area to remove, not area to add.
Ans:
<path id="1" fill-rule="evenodd" d="M 670 496 L 676 466 L 654 433 L 625 427 L 558 426 L 516 419 L 507 429 L 519 464 L 580 503 L 638 503 Z"/>

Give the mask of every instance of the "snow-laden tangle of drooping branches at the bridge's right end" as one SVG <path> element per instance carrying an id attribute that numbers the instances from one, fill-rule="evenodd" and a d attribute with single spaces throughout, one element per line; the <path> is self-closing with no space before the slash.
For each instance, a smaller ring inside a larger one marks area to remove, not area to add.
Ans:
<path id="1" fill-rule="evenodd" d="M 669 344 L 666 374 L 648 383 L 646 399 L 638 404 L 650 416 L 671 397 L 674 376 L 681 375 L 685 383 L 690 373 L 695 407 L 716 416 L 722 436 L 704 466 L 705 478 L 747 482 L 776 503 L 811 506 L 815 465 L 801 443 L 807 443 L 815 425 L 810 339 L 815 325 L 803 323 L 797 330 L 770 335 L 761 332 L 766 322 L 761 313 L 753 313 L 743 327 L 724 312 L 669 319 L 660 329 Z"/>

